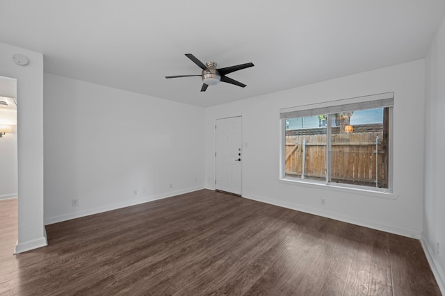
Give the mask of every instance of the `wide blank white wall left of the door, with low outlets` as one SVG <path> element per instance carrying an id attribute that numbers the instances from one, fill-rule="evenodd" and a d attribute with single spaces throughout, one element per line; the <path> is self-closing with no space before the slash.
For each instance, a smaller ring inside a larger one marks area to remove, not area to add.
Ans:
<path id="1" fill-rule="evenodd" d="M 204 188 L 203 122 L 201 107 L 45 73 L 45 224 Z"/>

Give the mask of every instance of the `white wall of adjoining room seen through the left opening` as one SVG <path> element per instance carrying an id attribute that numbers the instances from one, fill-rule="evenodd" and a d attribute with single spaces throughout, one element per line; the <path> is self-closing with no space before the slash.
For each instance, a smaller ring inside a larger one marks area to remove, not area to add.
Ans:
<path id="1" fill-rule="evenodd" d="M 0 107 L 1 124 L 13 125 L 13 131 L 0 138 L 0 199 L 8 199 L 17 197 L 17 110 Z"/>

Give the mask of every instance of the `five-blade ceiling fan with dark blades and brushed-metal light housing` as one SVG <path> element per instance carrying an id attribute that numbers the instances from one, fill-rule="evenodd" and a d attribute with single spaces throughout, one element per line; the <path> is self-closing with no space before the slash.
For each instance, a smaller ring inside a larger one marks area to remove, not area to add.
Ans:
<path id="1" fill-rule="evenodd" d="M 214 63 L 214 62 L 209 62 L 204 65 L 200 60 L 198 60 L 195 56 L 193 56 L 193 54 L 186 54 L 186 57 L 190 58 L 193 63 L 195 63 L 198 67 L 200 67 L 202 69 L 201 75 L 174 75 L 174 76 L 165 76 L 165 78 L 170 79 L 170 78 L 179 78 L 179 77 L 201 76 L 201 79 L 203 82 L 202 88 L 201 88 L 202 92 L 205 92 L 209 85 L 215 85 L 216 83 L 219 83 L 220 81 L 238 85 L 238 86 L 241 86 L 241 88 L 244 88 L 246 86 L 245 84 L 243 84 L 239 81 L 236 81 L 234 79 L 231 79 L 231 78 L 227 77 L 226 75 L 229 73 L 241 70 L 241 69 L 245 69 L 245 68 L 254 66 L 252 63 L 246 63 L 246 64 L 241 64 L 241 65 L 216 69 L 216 63 Z"/>

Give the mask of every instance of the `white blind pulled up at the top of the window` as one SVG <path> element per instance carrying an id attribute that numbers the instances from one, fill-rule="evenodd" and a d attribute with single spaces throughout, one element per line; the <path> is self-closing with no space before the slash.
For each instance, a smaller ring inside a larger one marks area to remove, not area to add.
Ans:
<path id="1" fill-rule="evenodd" d="M 353 110 L 391 107 L 394 105 L 394 92 L 371 94 L 364 97 L 340 99 L 320 104 L 309 104 L 280 109 L 280 119 L 334 114 Z"/>

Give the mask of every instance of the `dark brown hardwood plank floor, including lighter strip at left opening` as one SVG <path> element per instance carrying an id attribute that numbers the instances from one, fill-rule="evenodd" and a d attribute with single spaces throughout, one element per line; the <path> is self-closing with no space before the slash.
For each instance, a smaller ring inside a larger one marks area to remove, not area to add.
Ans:
<path id="1" fill-rule="evenodd" d="M 419 240 L 200 190 L 47 226 L 13 256 L 0 201 L 0 295 L 441 295 Z"/>

